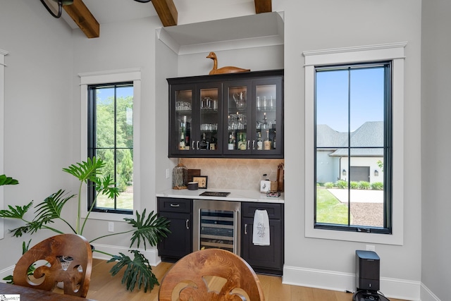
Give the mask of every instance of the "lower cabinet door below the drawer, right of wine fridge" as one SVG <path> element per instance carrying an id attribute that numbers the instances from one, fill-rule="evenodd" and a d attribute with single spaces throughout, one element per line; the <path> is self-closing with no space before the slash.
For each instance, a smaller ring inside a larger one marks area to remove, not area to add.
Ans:
<path id="1" fill-rule="evenodd" d="M 269 220 L 269 245 L 252 243 L 254 219 L 242 219 L 242 258 L 259 273 L 281 275 L 283 270 L 283 228 L 279 219 Z"/>

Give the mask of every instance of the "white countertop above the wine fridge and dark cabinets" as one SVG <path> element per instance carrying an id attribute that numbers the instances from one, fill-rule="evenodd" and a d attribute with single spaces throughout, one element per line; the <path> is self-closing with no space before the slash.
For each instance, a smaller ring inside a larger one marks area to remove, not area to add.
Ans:
<path id="1" fill-rule="evenodd" d="M 200 196 L 202 192 L 230 192 L 227 197 L 204 197 Z M 175 197 L 181 199 L 216 199 L 220 201 L 235 201 L 235 202 L 262 202 L 262 203 L 284 203 L 283 192 L 280 197 L 266 197 L 266 193 L 261 193 L 258 190 L 237 190 L 237 189 L 198 189 L 198 190 L 174 190 L 168 189 L 156 193 L 157 197 Z"/>

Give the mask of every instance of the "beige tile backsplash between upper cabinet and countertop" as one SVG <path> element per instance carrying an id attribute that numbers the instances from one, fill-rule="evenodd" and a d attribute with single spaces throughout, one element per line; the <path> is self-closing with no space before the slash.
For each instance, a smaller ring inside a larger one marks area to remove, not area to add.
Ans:
<path id="1" fill-rule="evenodd" d="M 277 180 L 277 168 L 283 159 L 183 158 L 180 163 L 208 176 L 207 188 L 259 190 L 261 180 Z"/>

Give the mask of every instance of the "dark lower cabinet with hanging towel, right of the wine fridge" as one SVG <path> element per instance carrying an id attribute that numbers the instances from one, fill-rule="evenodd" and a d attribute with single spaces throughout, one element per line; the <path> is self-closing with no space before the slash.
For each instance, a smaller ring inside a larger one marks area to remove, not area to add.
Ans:
<path id="1" fill-rule="evenodd" d="M 270 245 L 252 243 L 255 210 L 268 211 Z M 242 202 L 241 257 L 262 274 L 283 273 L 283 204 Z"/>

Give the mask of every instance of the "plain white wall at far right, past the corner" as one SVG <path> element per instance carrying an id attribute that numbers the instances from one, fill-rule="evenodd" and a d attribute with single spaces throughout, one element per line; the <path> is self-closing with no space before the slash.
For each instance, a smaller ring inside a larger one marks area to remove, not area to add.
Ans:
<path id="1" fill-rule="evenodd" d="M 451 3 L 423 1 L 421 37 L 421 281 L 440 300 L 449 300 L 451 281 Z M 425 288 L 425 290 L 426 290 Z M 427 290 L 421 300 L 426 299 Z M 430 299 L 433 300 L 433 299 Z"/>

